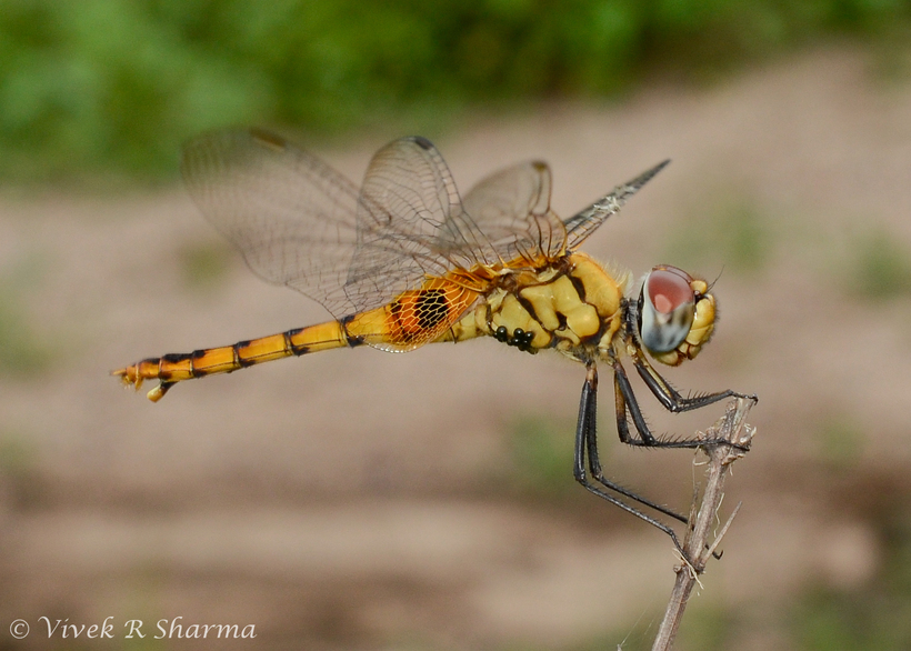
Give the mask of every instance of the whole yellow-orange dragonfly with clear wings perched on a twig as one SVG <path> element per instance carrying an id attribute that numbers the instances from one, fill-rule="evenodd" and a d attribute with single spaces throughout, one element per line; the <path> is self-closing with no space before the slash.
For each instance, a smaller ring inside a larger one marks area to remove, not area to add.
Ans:
<path id="1" fill-rule="evenodd" d="M 292 355 L 370 345 L 404 352 L 480 337 L 527 353 L 552 350 L 585 367 L 573 475 L 595 495 L 668 533 L 671 509 L 604 475 L 597 439 L 599 363 L 613 374 L 620 440 L 645 448 L 712 441 L 657 437 L 623 365 L 671 412 L 707 407 L 732 390 L 683 397 L 650 359 L 677 367 L 714 332 L 709 283 L 669 264 L 632 292 L 632 274 L 578 250 L 670 161 L 622 183 L 577 214 L 550 208 L 551 171 L 522 162 L 460 197 L 427 139 L 394 140 L 370 161 L 360 189 L 317 157 L 259 129 L 211 132 L 184 147 L 181 172 L 211 224 L 263 280 L 321 303 L 333 317 L 231 345 L 143 359 L 113 371 L 154 402 L 178 382 Z M 647 509 L 650 510 L 647 512 Z"/>

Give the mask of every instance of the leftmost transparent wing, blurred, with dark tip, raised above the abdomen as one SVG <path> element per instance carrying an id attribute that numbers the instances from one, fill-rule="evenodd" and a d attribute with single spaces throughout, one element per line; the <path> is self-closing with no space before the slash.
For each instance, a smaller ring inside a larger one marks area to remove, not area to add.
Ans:
<path id="1" fill-rule="evenodd" d="M 206 218 L 262 279 L 351 312 L 342 286 L 357 248 L 358 190 L 284 139 L 260 130 L 191 141 L 181 171 Z"/>

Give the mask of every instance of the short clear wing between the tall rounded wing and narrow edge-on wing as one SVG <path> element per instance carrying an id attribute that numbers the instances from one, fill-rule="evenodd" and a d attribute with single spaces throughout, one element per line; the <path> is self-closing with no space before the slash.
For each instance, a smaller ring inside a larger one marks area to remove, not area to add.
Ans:
<path id="1" fill-rule="evenodd" d="M 565 229 L 550 210 L 550 168 L 529 161 L 487 177 L 465 194 L 462 206 L 484 234 L 485 259 L 533 262 L 564 250 Z"/>

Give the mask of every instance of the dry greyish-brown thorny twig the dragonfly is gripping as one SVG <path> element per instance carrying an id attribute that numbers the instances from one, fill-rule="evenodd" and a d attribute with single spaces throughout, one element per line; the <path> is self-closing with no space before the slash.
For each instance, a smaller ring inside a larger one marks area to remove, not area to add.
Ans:
<path id="1" fill-rule="evenodd" d="M 747 424 L 747 414 L 753 404 L 755 404 L 755 401 L 750 398 L 738 398 L 735 401 L 732 401 L 728 405 L 724 415 L 704 433 L 704 438 L 711 440 L 721 439 L 741 447 L 749 447 L 755 433 L 755 428 Z M 737 515 L 737 511 L 740 509 L 740 504 L 738 504 L 719 534 L 710 542 L 709 532 L 715 521 L 715 514 L 721 505 L 721 499 L 724 497 L 724 478 L 728 474 L 728 467 L 743 457 L 744 452 L 723 443 L 705 448 L 704 452 L 709 457 L 709 463 L 705 470 L 707 480 L 702 494 L 702 503 L 699 507 L 699 512 L 695 514 L 695 518 L 692 517 L 691 512 L 690 527 L 683 540 L 683 551 L 690 561 L 687 562 L 683 560 L 681 564 L 674 569 L 677 572 L 677 581 L 671 592 L 671 599 L 668 602 L 668 609 L 664 612 L 664 620 L 658 629 L 658 637 L 652 645 L 652 651 L 669 651 L 671 649 L 671 644 L 673 644 L 673 640 L 677 637 L 677 631 L 680 628 L 680 621 L 683 618 L 683 610 L 687 608 L 687 602 L 690 599 L 690 593 L 693 587 L 699 582 L 699 575 L 705 571 L 705 563 L 712 557 L 718 543 L 721 542 L 721 539 L 731 525 L 731 521 L 734 515 Z M 694 510 L 695 500 L 693 500 L 693 511 Z"/>

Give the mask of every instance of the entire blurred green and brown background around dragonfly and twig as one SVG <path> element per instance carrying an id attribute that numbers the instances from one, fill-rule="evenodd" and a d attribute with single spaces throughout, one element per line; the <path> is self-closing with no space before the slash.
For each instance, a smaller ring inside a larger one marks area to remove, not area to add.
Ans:
<path id="1" fill-rule="evenodd" d="M 650 648 L 672 547 L 573 482 L 583 372 L 558 355 L 341 350 L 119 390 L 143 357 L 328 317 L 180 187 L 181 143 L 234 124 L 356 181 L 410 133 L 463 192 L 543 159 L 564 217 L 672 158 L 584 250 L 720 277 L 713 342 L 667 377 L 761 398 L 678 648 L 911 648 L 905 2 L 0 0 L 0 649 L 193 644 L 158 620 L 256 624 L 244 649 Z M 723 411 L 637 388 L 658 431 Z M 610 382 L 601 405 L 610 474 L 687 511 L 700 459 L 624 449 Z"/>

